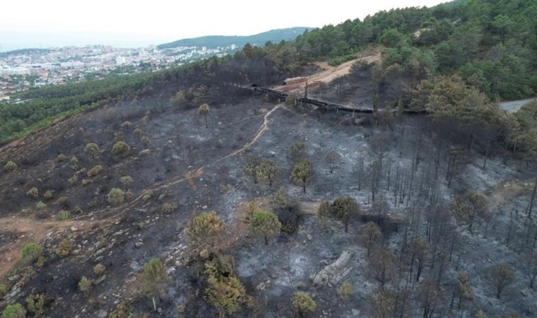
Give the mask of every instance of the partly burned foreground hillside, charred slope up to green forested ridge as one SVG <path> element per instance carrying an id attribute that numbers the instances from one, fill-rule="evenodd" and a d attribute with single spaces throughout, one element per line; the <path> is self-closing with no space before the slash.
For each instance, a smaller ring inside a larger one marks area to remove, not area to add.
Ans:
<path id="1" fill-rule="evenodd" d="M 0 312 L 535 317 L 537 102 L 496 102 L 537 91 L 534 5 L 510 4 L 22 93 L 0 108 Z"/>

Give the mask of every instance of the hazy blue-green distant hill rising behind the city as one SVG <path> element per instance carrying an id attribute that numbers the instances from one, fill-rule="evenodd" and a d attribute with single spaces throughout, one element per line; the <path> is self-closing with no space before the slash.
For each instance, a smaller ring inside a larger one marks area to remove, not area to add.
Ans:
<path id="1" fill-rule="evenodd" d="M 171 49 L 173 47 L 227 47 L 235 44 L 242 47 L 249 43 L 251 45 L 264 46 L 267 41 L 280 42 L 281 40 L 294 40 L 295 37 L 304 33 L 305 30 L 313 28 L 295 27 L 278 30 L 270 30 L 256 35 L 208 35 L 205 37 L 194 37 L 191 39 L 177 40 L 170 43 L 158 45 L 158 49 Z"/>

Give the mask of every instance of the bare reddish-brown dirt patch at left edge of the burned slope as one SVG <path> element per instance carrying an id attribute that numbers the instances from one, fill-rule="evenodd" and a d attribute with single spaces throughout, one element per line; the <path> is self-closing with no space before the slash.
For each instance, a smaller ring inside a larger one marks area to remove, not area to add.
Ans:
<path id="1" fill-rule="evenodd" d="M 95 222 L 87 220 L 35 220 L 32 218 L 0 218 L 0 237 L 11 240 L 0 244 L 0 277 L 4 277 L 20 260 L 20 250 L 30 242 L 40 242 L 49 233 L 64 232 L 70 228 L 77 231 L 89 230 Z"/>

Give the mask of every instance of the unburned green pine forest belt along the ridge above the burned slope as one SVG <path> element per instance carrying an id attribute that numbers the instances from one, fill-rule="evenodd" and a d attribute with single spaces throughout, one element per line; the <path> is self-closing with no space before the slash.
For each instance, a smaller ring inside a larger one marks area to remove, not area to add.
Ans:
<path id="1" fill-rule="evenodd" d="M 310 61 L 338 64 L 369 45 L 384 47 L 374 83 L 380 90 L 394 79 L 405 81 L 408 90 L 400 98 L 407 104 L 420 81 L 441 75 L 459 76 L 491 100 L 527 98 L 537 92 L 537 3 L 453 1 L 433 8 L 381 11 L 364 20 L 306 31 L 294 41 L 266 42 L 263 49 L 245 45 L 233 56 L 164 71 L 30 90 L 20 95 L 28 101 L 0 106 L 0 142 L 58 117 L 163 85 L 182 90 L 187 107 L 231 102 L 240 96 L 240 86 L 278 83 L 300 74 Z"/>

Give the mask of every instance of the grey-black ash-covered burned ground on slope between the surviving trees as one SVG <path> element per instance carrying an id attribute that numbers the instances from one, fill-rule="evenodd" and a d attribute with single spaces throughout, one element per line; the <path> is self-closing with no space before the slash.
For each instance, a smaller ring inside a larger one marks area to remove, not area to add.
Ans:
<path id="1" fill-rule="evenodd" d="M 350 114 L 323 114 L 254 96 L 237 105 L 212 105 L 206 128 L 198 110 L 174 109 L 168 98 L 155 95 L 118 102 L 60 122 L 2 150 L 1 161 L 13 160 L 19 167 L 0 177 L 0 221 L 36 218 L 61 224 L 66 221 L 56 220 L 56 216 L 64 209 L 72 212 L 69 222 L 73 224 L 61 230 L 51 228 L 40 238 L 47 261 L 40 268 L 33 266 L 35 276 L 27 283 L 20 283 L 24 275 L 21 263 L 13 266 L 5 278 L 10 290 L 0 302 L 1 308 L 7 302 L 24 303 L 30 293 L 45 293 L 49 317 L 108 317 L 119 302 L 148 317 L 213 317 L 216 310 L 203 300 L 201 265 L 192 262 L 184 229 L 193 216 L 216 211 L 228 229 L 222 248 L 235 257 L 237 276 L 252 296 L 234 317 L 292 317 L 290 298 L 297 290 L 309 293 L 317 302 L 313 317 L 382 317 L 377 297 L 380 284 L 358 230 L 368 220 L 382 224 L 384 238 L 375 248 L 389 247 L 394 252 L 394 273 L 383 287 L 394 295 L 401 290 L 406 293 L 401 317 L 423 317 L 423 281 L 436 282 L 438 277 L 432 317 L 472 317 L 479 310 L 488 317 L 513 313 L 532 317 L 537 313 L 536 294 L 524 275 L 524 257 L 534 243 L 533 230 L 526 235 L 524 213 L 533 183 L 519 181 L 524 176 L 511 162 L 512 167 L 493 158 L 483 169 L 483 158 L 474 151 L 448 188 L 447 158 L 440 156 L 433 177 L 435 156 L 429 151 L 434 153 L 435 144 L 420 131 L 419 119 L 397 119 L 387 127 L 358 126 L 354 123 L 360 121 Z M 129 129 L 121 126 L 126 120 L 133 123 Z M 144 145 L 134 129 L 141 129 L 150 144 Z M 418 135 L 422 136 L 419 140 Z M 383 172 L 376 192 L 377 201 L 384 196 L 387 202 L 382 222 L 373 211 L 367 177 L 371 164 L 379 158 L 373 146 L 379 136 L 390 141 L 382 154 Z M 110 153 L 118 140 L 131 146 L 124 158 Z M 100 152 L 85 153 L 89 142 L 97 143 Z M 292 163 L 287 149 L 294 142 L 307 144 L 307 158 L 314 170 L 305 193 L 290 182 Z M 329 151 L 338 153 L 334 173 L 326 163 Z M 59 153 L 66 160 L 57 161 Z M 272 187 L 267 182 L 254 184 L 244 175 L 242 167 L 250 155 L 271 158 L 281 165 Z M 78 158 L 75 167 L 69 162 L 73 156 Z M 95 165 L 102 165 L 103 172 L 88 177 L 87 170 Z M 70 184 L 67 180 L 73 175 L 78 181 Z M 113 187 L 124 188 L 119 178 L 125 175 L 133 179 L 128 185 L 132 194 L 123 204 L 111 206 L 107 194 Z M 39 190 L 37 199 L 26 194 L 32 187 Z M 270 208 L 280 187 L 299 202 L 300 226 L 293 234 L 269 238 L 265 245 L 249 234 L 244 205 L 257 201 Z M 47 190 L 54 191 L 54 198 L 48 201 L 43 197 Z M 434 218 L 427 211 L 435 204 L 449 206 L 457 194 L 468 190 L 485 196 L 489 218 L 476 220 L 469 231 L 468 225 L 449 216 L 444 236 L 434 245 L 430 232 L 436 225 L 430 226 Z M 151 197 L 144 197 L 148 192 Z M 340 196 L 350 196 L 361 208 L 360 216 L 350 218 L 348 232 L 340 220 L 321 222 L 316 214 L 321 201 Z M 66 201 L 59 200 L 61 197 Z M 38 201 L 47 206 L 37 211 Z M 177 204 L 177 208 L 163 211 L 166 203 Z M 16 237 L 23 238 L 17 229 L 0 230 L 3 247 Z M 419 281 L 415 259 L 408 247 L 403 248 L 403 242 L 418 237 L 431 248 L 423 259 Z M 62 258 L 53 250 L 64 239 L 73 242 L 73 249 Z M 30 240 L 20 240 L 10 251 L 21 249 L 25 242 Z M 433 245 L 436 251 L 432 251 Z M 439 252 L 450 254 L 442 266 Z M 172 278 L 166 295 L 154 305 L 142 295 L 138 277 L 153 257 L 165 261 Z M 501 299 L 495 297 L 488 277 L 490 266 L 497 263 L 509 264 L 515 273 Z M 105 265 L 105 276 L 93 273 L 96 264 Z M 460 305 L 456 295 L 459 271 L 466 271 L 473 285 L 473 299 Z M 98 282 L 90 295 L 78 290 L 81 276 Z M 343 283 L 353 286 L 346 300 L 337 292 Z M 454 304 L 450 304 L 452 298 Z M 401 307 L 401 298 L 395 297 L 389 306 L 397 307 L 396 299 Z"/>

